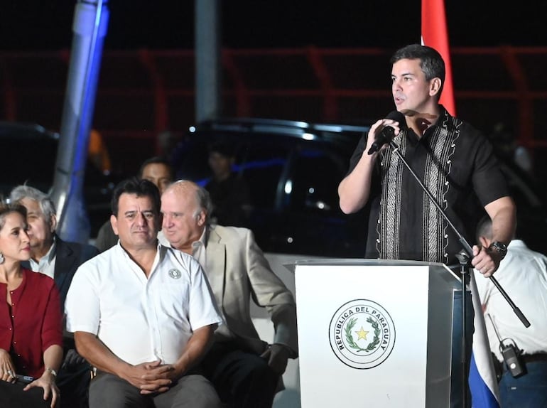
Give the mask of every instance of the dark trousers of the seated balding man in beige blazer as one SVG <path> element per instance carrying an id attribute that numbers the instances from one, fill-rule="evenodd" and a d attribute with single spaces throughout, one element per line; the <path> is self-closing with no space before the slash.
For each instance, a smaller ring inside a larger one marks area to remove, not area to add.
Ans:
<path id="1" fill-rule="evenodd" d="M 279 375 L 264 358 L 234 343 L 215 343 L 201 366 L 222 402 L 234 408 L 271 408 Z"/>

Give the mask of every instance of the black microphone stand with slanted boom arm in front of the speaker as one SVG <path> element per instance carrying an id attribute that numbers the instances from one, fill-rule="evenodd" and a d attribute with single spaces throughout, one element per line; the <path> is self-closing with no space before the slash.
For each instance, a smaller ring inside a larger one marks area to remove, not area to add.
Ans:
<path id="1" fill-rule="evenodd" d="M 463 407 L 467 407 L 467 377 L 465 375 L 466 369 L 467 369 L 467 343 L 465 343 L 465 338 L 467 337 L 467 330 L 466 330 L 466 308 L 467 308 L 467 301 L 465 300 L 465 294 L 466 294 L 466 279 L 465 274 L 468 274 L 470 276 L 470 259 L 473 257 L 473 249 L 471 245 L 465 240 L 465 237 L 460 234 L 460 232 L 457 230 L 456 226 L 453 224 L 452 221 L 450 221 L 450 218 L 448 218 L 448 215 L 445 213 L 445 210 L 441 208 L 440 204 L 437 202 L 433 194 L 430 193 L 428 188 L 423 184 L 423 182 L 420 180 L 418 175 L 415 171 L 411 168 L 411 166 L 408 164 L 404 156 L 401 154 L 401 151 L 399 151 L 399 145 L 395 143 L 393 138 L 391 137 L 389 139 L 389 146 L 393 150 L 393 152 L 399 156 L 399 159 L 403 162 L 404 166 L 410 171 L 413 178 L 416 179 L 422 190 L 428 195 L 428 198 L 431 200 L 431 202 L 435 205 L 435 207 L 439 210 L 440 215 L 443 216 L 446 222 L 448 222 L 448 225 L 450 228 L 452 228 L 453 232 L 457 236 L 457 239 L 460 241 L 460 244 L 462 244 L 462 251 L 456 255 L 457 259 L 460 261 L 460 273 L 462 274 L 461 281 L 462 281 L 462 392 L 463 392 Z M 369 152 L 370 154 L 370 152 Z M 516 316 L 519 318 L 519 320 L 524 324 L 524 327 L 529 327 L 530 322 L 528 319 L 524 316 L 524 314 L 521 312 L 521 310 L 514 304 L 514 302 L 511 300 L 509 295 L 506 291 L 502 288 L 502 286 L 499 284 L 496 278 L 494 276 L 489 277 L 490 281 L 494 284 L 494 286 L 497 287 L 499 292 L 502 294 L 504 299 L 509 303 L 511 308 L 513 309 Z"/>

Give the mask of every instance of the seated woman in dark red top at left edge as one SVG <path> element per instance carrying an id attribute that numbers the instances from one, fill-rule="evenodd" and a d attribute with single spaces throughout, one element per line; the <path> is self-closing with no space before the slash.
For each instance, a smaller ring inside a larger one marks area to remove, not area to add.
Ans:
<path id="1" fill-rule="evenodd" d="M 59 293 L 21 268 L 31 257 L 22 205 L 0 204 L 0 407 L 55 407 L 63 358 Z M 22 375 L 33 377 L 26 384 Z M 40 390 L 43 389 L 43 390 Z"/>

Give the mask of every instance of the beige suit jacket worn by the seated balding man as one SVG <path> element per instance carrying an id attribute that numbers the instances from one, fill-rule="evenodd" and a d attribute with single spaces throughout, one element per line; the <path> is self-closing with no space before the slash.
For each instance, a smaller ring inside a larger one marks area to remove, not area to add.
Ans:
<path id="1" fill-rule="evenodd" d="M 268 345 L 259 338 L 251 321 L 251 299 L 268 311 L 275 336 L 273 343 L 287 345 L 298 356 L 296 303 L 291 291 L 271 270 L 254 234 L 247 228 L 207 227 L 204 268 L 225 324 L 217 328 L 217 340 L 235 339 L 245 350 L 262 353 Z"/>

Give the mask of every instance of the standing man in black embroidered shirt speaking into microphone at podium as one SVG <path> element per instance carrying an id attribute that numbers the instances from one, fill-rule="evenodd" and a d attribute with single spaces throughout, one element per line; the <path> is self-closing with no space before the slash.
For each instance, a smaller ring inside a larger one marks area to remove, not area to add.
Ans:
<path id="1" fill-rule="evenodd" d="M 468 242 L 474 242 L 484 211 L 492 219 L 492 245 L 475 245 L 471 260 L 490 277 L 516 223 L 515 205 L 492 146 L 480 131 L 439 104 L 445 63 L 436 50 L 407 45 L 390 62 L 396 112 L 379 119 L 359 141 L 350 171 L 338 186 L 340 208 L 349 214 L 369 205 L 367 258 L 458 264 L 462 244 L 389 146 L 384 129 L 392 127 L 401 156 Z M 452 377 L 457 378 L 455 372 Z"/>

